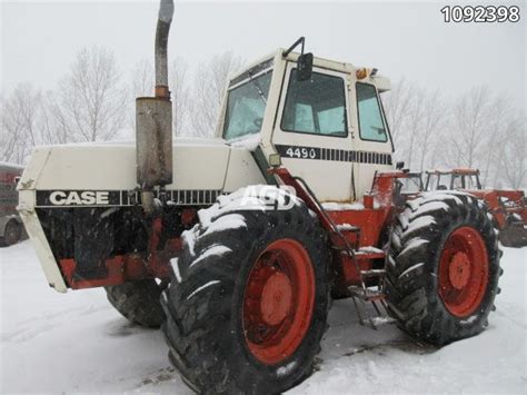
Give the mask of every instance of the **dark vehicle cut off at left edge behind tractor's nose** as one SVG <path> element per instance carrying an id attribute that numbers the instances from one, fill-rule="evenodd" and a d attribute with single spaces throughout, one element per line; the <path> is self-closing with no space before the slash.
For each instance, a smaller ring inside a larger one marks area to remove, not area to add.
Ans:
<path id="1" fill-rule="evenodd" d="M 23 236 L 23 225 L 17 211 L 17 182 L 23 167 L 0 162 L 0 246 L 17 244 Z"/>

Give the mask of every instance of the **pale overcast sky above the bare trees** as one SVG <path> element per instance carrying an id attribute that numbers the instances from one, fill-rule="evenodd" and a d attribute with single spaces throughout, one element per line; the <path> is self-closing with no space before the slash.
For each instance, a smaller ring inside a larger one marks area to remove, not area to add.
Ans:
<path id="1" fill-rule="evenodd" d="M 3 95 L 22 81 L 53 89 L 84 46 L 112 49 L 127 72 L 152 59 L 158 1 L 0 1 Z M 445 95 L 488 85 L 525 108 L 526 1 L 511 2 L 518 23 L 445 23 L 446 3 L 176 1 L 169 55 L 190 67 L 225 50 L 255 60 L 306 36 L 316 56 Z"/>

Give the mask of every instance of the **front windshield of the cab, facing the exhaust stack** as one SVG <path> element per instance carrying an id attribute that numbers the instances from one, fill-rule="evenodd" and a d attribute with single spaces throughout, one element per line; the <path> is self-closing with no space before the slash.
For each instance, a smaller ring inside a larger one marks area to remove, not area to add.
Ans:
<path id="1" fill-rule="evenodd" d="M 258 77 L 249 77 L 246 82 L 229 90 L 223 126 L 226 140 L 237 140 L 260 131 L 271 75 L 268 70 Z"/>

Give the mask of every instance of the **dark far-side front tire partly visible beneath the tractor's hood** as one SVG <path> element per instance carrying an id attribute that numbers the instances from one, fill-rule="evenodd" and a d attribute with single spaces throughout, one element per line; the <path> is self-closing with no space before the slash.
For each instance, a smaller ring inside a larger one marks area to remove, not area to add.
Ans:
<path id="1" fill-rule="evenodd" d="M 159 328 L 165 320 L 162 286 L 153 278 L 105 287 L 110 304 L 129 322 Z"/>

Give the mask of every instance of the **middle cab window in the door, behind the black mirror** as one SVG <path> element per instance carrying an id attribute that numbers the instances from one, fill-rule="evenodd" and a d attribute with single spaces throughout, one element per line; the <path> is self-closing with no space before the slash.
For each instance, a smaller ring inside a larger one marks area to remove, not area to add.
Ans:
<path id="1" fill-rule="evenodd" d="M 309 81 L 297 81 L 292 69 L 280 127 L 284 131 L 346 137 L 344 79 L 314 72 Z"/>

